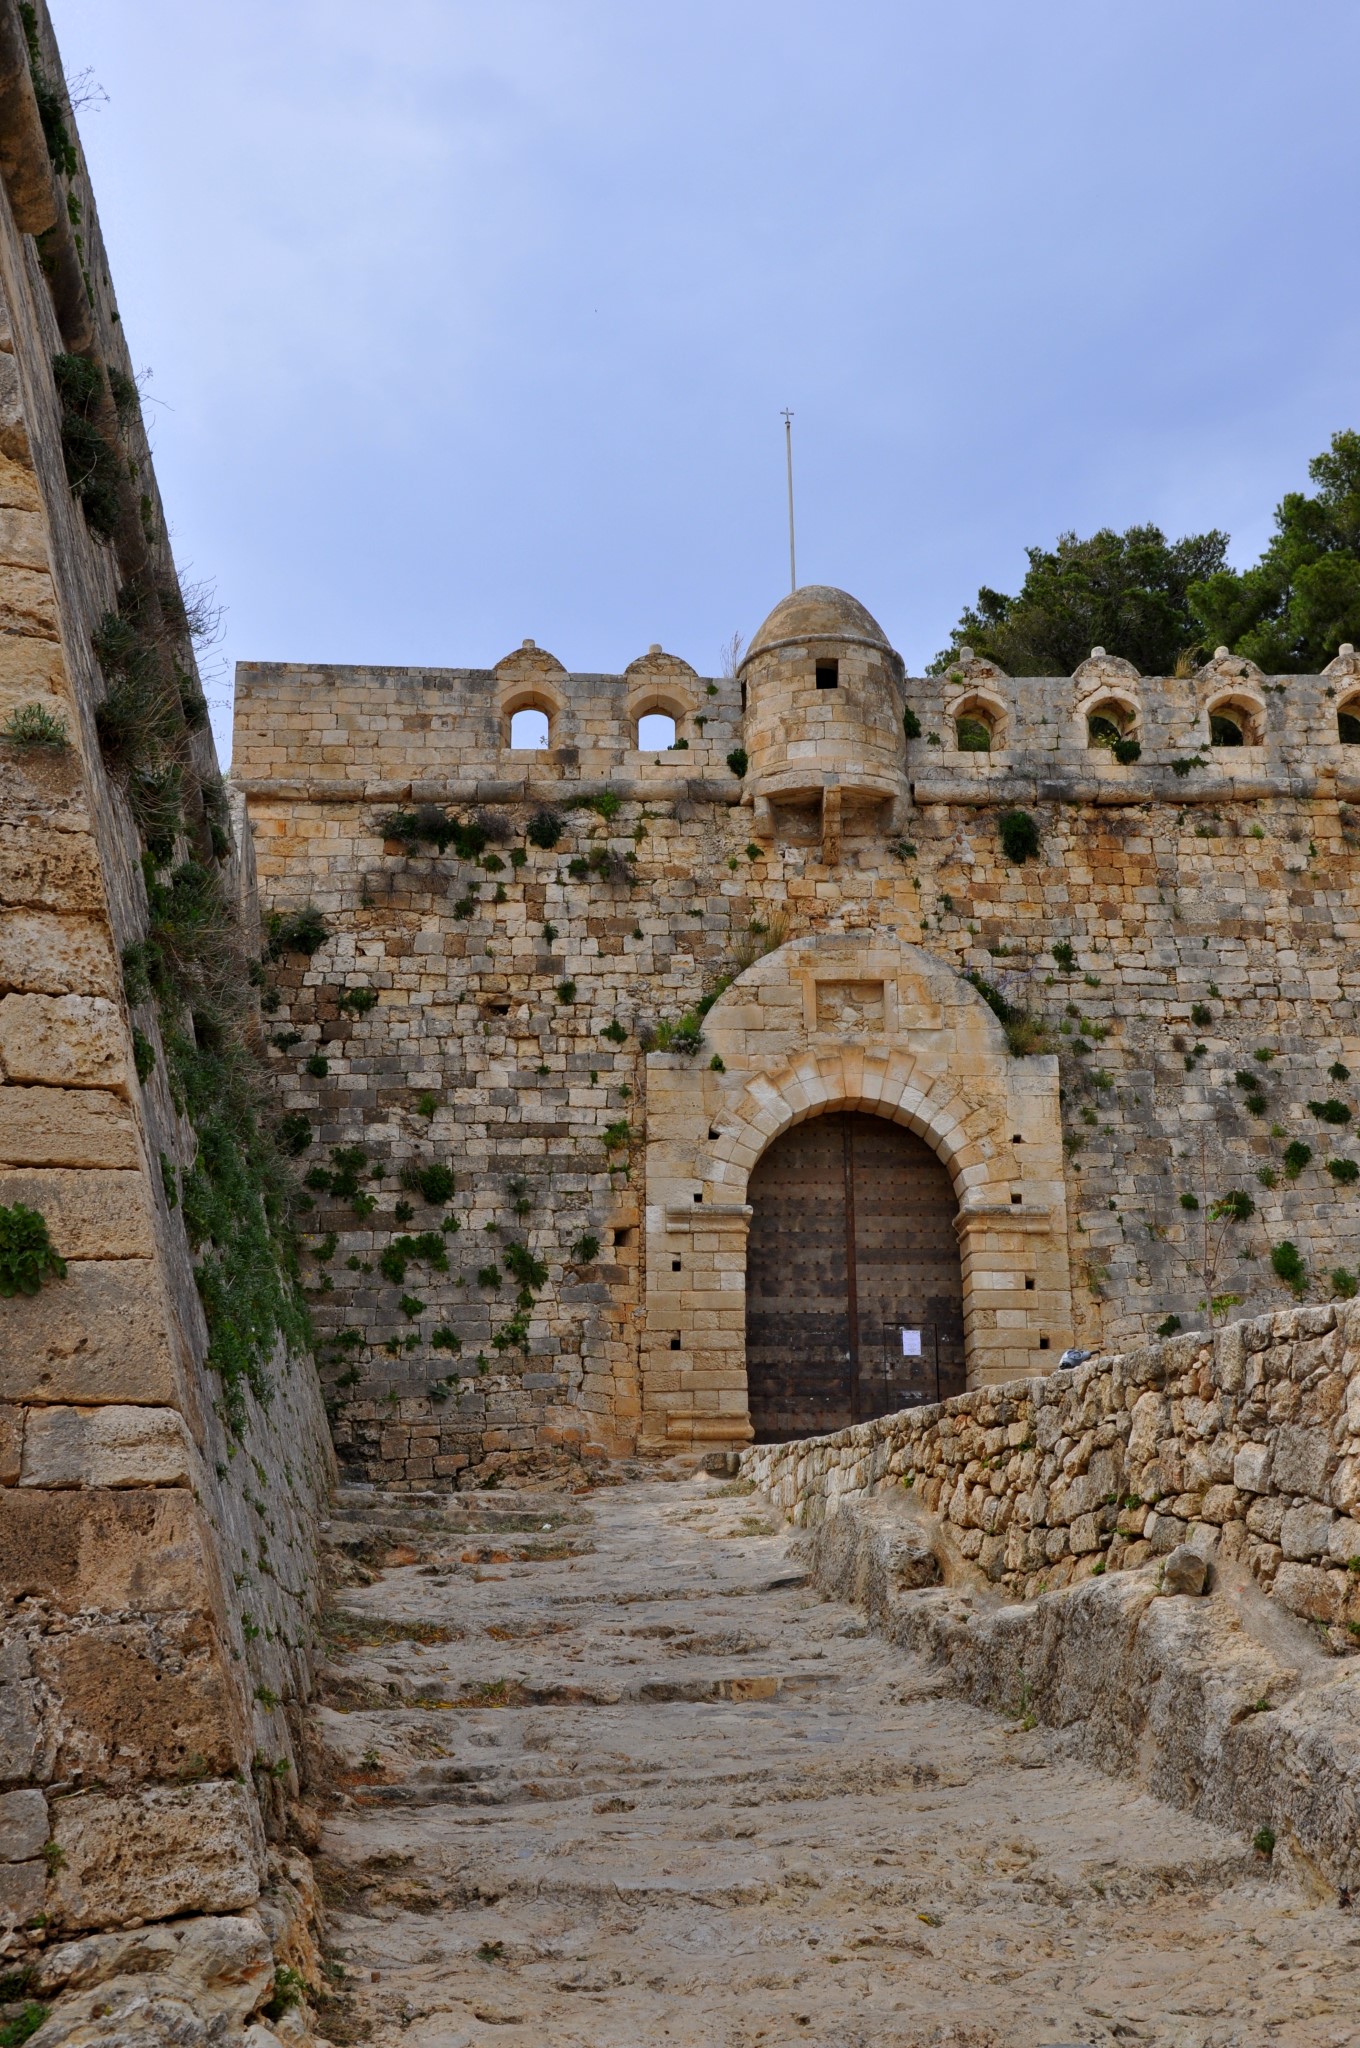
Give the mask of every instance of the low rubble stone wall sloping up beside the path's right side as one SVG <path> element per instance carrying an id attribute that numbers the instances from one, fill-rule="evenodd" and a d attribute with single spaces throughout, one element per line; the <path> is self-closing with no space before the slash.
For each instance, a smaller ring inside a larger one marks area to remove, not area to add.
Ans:
<path id="1" fill-rule="evenodd" d="M 1022 1599 L 1190 1544 L 1360 1651 L 1360 1307 L 1286 1309 L 741 1454 L 801 1526 L 901 1489 Z"/>

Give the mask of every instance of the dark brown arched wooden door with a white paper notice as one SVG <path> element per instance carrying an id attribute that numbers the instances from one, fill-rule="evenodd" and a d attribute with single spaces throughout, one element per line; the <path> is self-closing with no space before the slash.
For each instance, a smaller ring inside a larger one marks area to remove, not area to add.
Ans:
<path id="1" fill-rule="evenodd" d="M 746 1376 L 758 1444 L 963 1393 L 954 1190 L 901 1124 L 795 1124 L 750 1180 Z"/>

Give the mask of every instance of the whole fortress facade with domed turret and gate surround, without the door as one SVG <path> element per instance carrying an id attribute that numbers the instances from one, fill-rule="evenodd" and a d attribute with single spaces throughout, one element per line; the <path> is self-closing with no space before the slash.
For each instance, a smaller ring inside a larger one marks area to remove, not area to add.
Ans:
<path id="1" fill-rule="evenodd" d="M 307 1161 L 358 1145 L 377 1176 L 365 1214 L 315 1212 L 346 1466 L 449 1485 L 739 1446 L 746 1180 L 827 1108 L 895 1116 L 948 1165 L 971 1384 L 1202 1329 L 1210 1298 L 1344 1298 L 1360 752 L 1337 713 L 1358 700 L 1352 649 L 1323 676 L 1217 655 L 1141 678 L 1096 649 L 1071 678 L 967 655 L 907 678 L 819 586 L 715 678 L 660 649 L 567 674 L 533 643 L 496 670 L 244 664 L 264 903 L 328 928 L 279 965 L 281 1085 Z M 510 743 L 526 707 L 543 752 Z M 637 745 L 653 711 L 672 750 Z M 1092 717 L 1139 758 L 1094 745 Z M 985 752 L 954 743 L 969 721 Z M 485 846 L 393 838 L 422 805 Z M 545 811 L 555 844 L 528 829 Z M 1012 811 L 1032 858 L 1004 852 Z M 438 1161 L 457 1192 L 430 1210 L 401 1176 Z M 440 1219 L 447 1270 L 383 1276 L 393 1237 Z M 508 1243 L 545 1268 L 524 1298 Z"/>

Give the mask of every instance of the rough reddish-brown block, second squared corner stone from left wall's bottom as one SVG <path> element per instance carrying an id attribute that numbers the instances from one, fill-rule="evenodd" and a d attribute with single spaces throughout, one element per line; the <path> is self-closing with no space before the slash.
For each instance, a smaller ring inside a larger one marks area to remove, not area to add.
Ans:
<path id="1" fill-rule="evenodd" d="M 201 1614 L 43 1636 L 33 1669 L 61 1702 L 59 1780 L 223 1778 L 248 1761 L 236 1690 Z"/>

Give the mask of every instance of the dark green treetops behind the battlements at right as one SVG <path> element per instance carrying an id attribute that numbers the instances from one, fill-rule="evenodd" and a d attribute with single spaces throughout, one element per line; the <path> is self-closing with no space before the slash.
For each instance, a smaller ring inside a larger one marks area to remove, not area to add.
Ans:
<path id="1" fill-rule="evenodd" d="M 1217 528 L 1167 541 L 1159 526 L 1102 526 L 1026 549 L 1020 592 L 983 586 L 932 674 L 965 645 L 1010 676 L 1071 676 L 1092 647 L 1145 676 L 1170 676 L 1215 647 L 1268 674 L 1317 672 L 1342 641 L 1360 643 L 1360 432 L 1333 434 L 1309 477 L 1315 496 L 1282 498 L 1251 569 L 1227 565 L 1229 537 Z"/>

